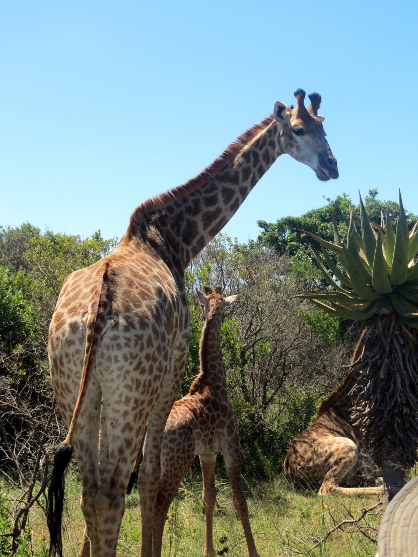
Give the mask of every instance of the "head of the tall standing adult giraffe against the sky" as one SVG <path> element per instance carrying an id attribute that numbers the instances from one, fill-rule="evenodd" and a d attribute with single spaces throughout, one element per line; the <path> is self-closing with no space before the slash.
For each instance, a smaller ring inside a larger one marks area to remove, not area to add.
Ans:
<path id="1" fill-rule="evenodd" d="M 274 119 L 281 125 L 279 148 L 281 152 L 307 164 L 325 182 L 338 178 L 337 159 L 325 139 L 324 117 L 318 115 L 321 96 L 316 92 L 308 96 L 308 108 L 304 105 L 305 91 L 302 89 L 295 91 L 297 106 L 286 106 L 279 101 L 274 105 Z"/>

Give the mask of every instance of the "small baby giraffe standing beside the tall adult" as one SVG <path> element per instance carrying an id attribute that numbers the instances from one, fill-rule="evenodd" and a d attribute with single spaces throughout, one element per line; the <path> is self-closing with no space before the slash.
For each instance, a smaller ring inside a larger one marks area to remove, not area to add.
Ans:
<path id="1" fill-rule="evenodd" d="M 177 400 L 170 412 L 161 446 L 161 479 L 154 507 L 153 556 L 161 556 L 167 512 L 178 486 L 196 455 L 200 457 L 203 477 L 202 500 L 205 507 L 205 557 L 216 554 L 212 521 L 216 502 L 215 462 L 221 452 L 234 493 L 234 505 L 244 528 L 250 557 L 258 557 L 248 518 L 247 501 L 241 486 L 242 448 L 238 418 L 226 390 L 220 330 L 223 310 L 236 296 L 224 298 L 220 287 L 215 292 L 197 290 L 205 325 L 200 340 L 200 373 L 189 393 Z M 145 444 L 147 439 L 145 439 Z"/>

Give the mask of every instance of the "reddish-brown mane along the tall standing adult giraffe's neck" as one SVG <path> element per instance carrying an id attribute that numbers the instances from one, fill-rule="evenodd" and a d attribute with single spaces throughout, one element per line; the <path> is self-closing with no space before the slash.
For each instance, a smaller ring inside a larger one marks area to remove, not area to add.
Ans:
<path id="1" fill-rule="evenodd" d="M 191 178 L 188 182 L 178 185 L 176 188 L 169 189 L 168 192 L 160 193 L 155 197 L 150 197 L 147 201 L 138 205 L 130 216 L 128 232 L 133 232 L 132 228 L 134 222 L 144 214 L 162 209 L 169 203 L 178 201 L 182 197 L 194 192 L 197 188 L 208 182 L 208 180 L 220 172 L 222 168 L 224 168 L 245 145 L 259 135 L 261 131 L 264 131 L 267 126 L 271 124 L 271 122 L 273 122 L 273 114 L 270 114 L 268 118 L 262 120 L 260 124 L 255 124 L 252 128 L 239 135 L 235 141 L 232 141 L 232 143 L 227 146 L 219 157 L 203 169 L 200 174 L 197 174 L 195 178 Z"/>

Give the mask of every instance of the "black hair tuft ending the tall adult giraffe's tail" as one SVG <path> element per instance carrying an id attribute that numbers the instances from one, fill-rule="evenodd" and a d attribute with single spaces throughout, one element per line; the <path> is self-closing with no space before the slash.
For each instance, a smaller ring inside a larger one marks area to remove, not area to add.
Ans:
<path id="1" fill-rule="evenodd" d="M 46 516 L 50 531 L 49 557 L 62 557 L 61 522 L 64 508 L 65 481 L 64 472 L 72 456 L 72 446 L 62 443 L 54 457 L 54 466 L 49 477 L 46 497 Z"/>

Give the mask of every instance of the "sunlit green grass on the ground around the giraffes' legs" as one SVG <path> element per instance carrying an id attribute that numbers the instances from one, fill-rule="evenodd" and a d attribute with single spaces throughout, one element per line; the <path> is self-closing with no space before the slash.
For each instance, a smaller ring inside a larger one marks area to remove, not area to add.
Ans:
<path id="1" fill-rule="evenodd" d="M 221 555 L 248 555 L 241 522 L 232 502 L 227 481 L 217 481 L 217 504 L 213 520 L 213 539 Z M 274 481 L 245 485 L 250 520 L 260 556 L 307 557 L 366 557 L 376 554 L 376 544 L 367 539 L 356 525 L 345 525 L 320 543 L 335 524 L 361 515 L 362 509 L 375 505 L 376 496 L 328 496 L 321 499 L 316 491 L 296 490 L 280 476 Z M 3 486 L 4 489 L 4 486 Z M 201 557 L 205 547 L 205 516 L 201 501 L 201 481 L 188 475 L 168 513 L 164 529 L 164 557 Z M 67 478 L 64 519 L 64 554 L 76 557 L 84 529 L 79 500 L 81 484 L 76 475 Z M 381 512 L 370 512 L 367 524 L 378 527 Z M 366 534 L 376 537 L 376 531 L 359 523 Z M 30 516 L 32 555 L 47 555 L 48 534 L 41 509 L 34 508 Z M 319 543 L 319 545 L 318 545 Z M 317 545 L 316 548 L 314 546 Z M 126 510 L 120 529 L 118 556 L 138 557 L 140 546 L 140 512 L 138 493 L 127 496 Z"/>

